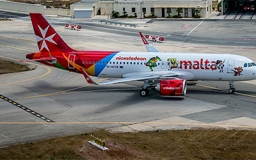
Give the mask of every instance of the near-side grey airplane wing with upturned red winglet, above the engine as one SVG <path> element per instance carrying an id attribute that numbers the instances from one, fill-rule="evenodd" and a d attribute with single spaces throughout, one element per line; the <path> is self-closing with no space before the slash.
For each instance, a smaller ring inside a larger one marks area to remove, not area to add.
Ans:
<path id="1" fill-rule="evenodd" d="M 108 81 L 108 82 L 102 82 L 102 83 L 95 83 L 93 79 L 83 70 L 81 69 L 81 72 L 84 75 L 84 78 L 88 83 L 93 83 L 93 84 L 115 84 L 115 83 L 125 83 L 129 81 L 141 81 L 145 79 L 158 79 L 159 77 L 175 77 L 179 76 L 175 72 L 136 72 L 136 73 L 131 73 L 131 74 L 125 74 L 122 79 L 116 79 L 113 81 Z M 136 77 L 134 77 L 136 76 Z"/>

